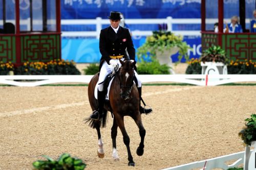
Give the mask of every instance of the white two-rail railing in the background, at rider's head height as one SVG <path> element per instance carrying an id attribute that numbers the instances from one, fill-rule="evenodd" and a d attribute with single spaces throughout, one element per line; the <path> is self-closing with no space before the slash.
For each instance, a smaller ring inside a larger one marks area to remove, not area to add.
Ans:
<path id="1" fill-rule="evenodd" d="M 224 21 L 229 22 L 229 18 L 225 18 Z M 15 20 L 7 20 L 6 22 L 12 22 L 15 24 Z M 55 20 L 47 20 L 48 23 L 55 25 Z M 218 19 L 210 18 L 206 19 L 207 24 L 212 25 L 212 29 L 214 23 L 218 22 Z M 249 23 L 249 19 L 246 19 L 246 23 Z M 102 25 L 108 25 L 110 23 L 109 19 L 102 19 L 97 17 L 96 19 L 61 19 L 61 25 L 95 25 L 95 31 L 62 31 L 62 36 L 65 37 L 96 37 L 99 38 L 100 30 L 102 29 Z M 155 24 L 163 24 L 166 23 L 167 30 L 172 31 L 175 34 L 183 35 L 183 36 L 201 36 L 201 30 L 182 30 L 177 31 L 173 30 L 174 24 L 183 24 L 183 25 L 193 25 L 193 24 L 201 24 L 200 18 L 172 18 L 170 16 L 166 18 L 149 18 L 149 19 L 125 19 L 125 23 L 127 25 L 155 25 Z M 33 20 L 34 25 L 41 25 L 41 20 Z M 0 20 L 0 26 L 3 25 L 3 20 Z M 26 25 L 27 31 L 30 30 L 30 18 L 20 20 L 20 25 Z M 134 37 L 138 36 L 148 36 L 152 35 L 152 30 L 150 31 L 141 31 L 141 30 L 133 30 L 132 35 Z"/>

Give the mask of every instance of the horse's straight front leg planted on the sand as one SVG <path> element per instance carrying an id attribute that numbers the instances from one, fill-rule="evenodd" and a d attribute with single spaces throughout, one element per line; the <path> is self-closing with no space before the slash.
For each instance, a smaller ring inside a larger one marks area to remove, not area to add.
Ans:
<path id="1" fill-rule="evenodd" d="M 129 166 L 135 166 L 135 163 L 133 161 L 133 156 L 131 154 L 131 150 L 130 150 L 130 138 L 124 128 L 124 122 L 123 122 L 123 116 L 120 116 L 119 114 L 115 114 L 116 116 L 116 123 L 118 125 L 118 127 L 120 128 L 122 135 L 123 135 L 123 142 L 126 146 L 127 149 L 127 153 L 128 153 L 128 165 Z"/>

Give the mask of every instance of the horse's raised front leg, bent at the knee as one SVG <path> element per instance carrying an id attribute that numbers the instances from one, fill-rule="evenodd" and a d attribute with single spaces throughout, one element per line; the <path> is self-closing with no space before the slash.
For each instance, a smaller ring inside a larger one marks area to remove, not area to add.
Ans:
<path id="1" fill-rule="evenodd" d="M 140 114 L 137 116 L 137 118 L 134 118 L 134 121 L 136 123 L 136 125 L 139 128 L 139 133 L 140 133 L 140 144 L 139 147 L 137 148 L 137 155 L 138 156 L 142 156 L 144 153 L 144 138 L 146 135 L 146 130 L 144 129 L 143 125 L 142 125 L 142 120 L 141 120 L 141 116 Z"/>

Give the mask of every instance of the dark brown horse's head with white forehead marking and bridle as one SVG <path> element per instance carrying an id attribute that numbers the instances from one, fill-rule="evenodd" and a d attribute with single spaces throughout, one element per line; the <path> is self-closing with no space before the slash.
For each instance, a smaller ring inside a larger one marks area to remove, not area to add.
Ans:
<path id="1" fill-rule="evenodd" d="M 120 60 L 121 68 L 119 70 L 120 81 L 120 96 L 122 99 L 130 99 L 130 93 L 134 84 L 134 66 L 136 62 L 134 60 Z"/>

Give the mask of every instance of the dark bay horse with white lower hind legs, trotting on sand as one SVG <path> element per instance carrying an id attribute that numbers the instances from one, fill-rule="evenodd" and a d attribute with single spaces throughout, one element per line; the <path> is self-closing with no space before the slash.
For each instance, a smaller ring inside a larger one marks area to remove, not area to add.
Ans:
<path id="1" fill-rule="evenodd" d="M 109 91 L 109 102 L 104 103 L 103 115 L 99 118 L 99 120 L 92 120 L 88 117 L 87 123 L 91 128 L 97 130 L 98 134 L 98 157 L 104 157 L 103 150 L 103 142 L 100 134 L 100 127 L 104 128 L 106 125 L 106 118 L 108 111 L 112 113 L 113 117 L 113 126 L 111 128 L 111 138 L 113 145 L 113 158 L 114 160 L 119 160 L 119 156 L 116 150 L 116 136 L 117 136 L 117 128 L 120 128 L 120 131 L 123 135 L 123 142 L 126 145 L 127 153 L 128 153 L 128 165 L 135 166 L 135 162 L 133 161 L 133 156 L 130 150 L 130 138 L 125 130 L 124 126 L 124 116 L 131 116 L 136 125 L 139 128 L 140 134 L 140 144 L 137 148 L 137 155 L 142 156 L 144 153 L 144 137 L 146 131 L 142 125 L 141 114 L 139 111 L 140 98 L 139 92 L 135 84 L 135 61 L 134 60 L 120 60 L 121 67 L 116 71 L 115 76 L 113 78 L 110 91 Z M 98 102 L 94 96 L 94 89 L 98 82 L 98 74 L 94 75 L 91 79 L 88 86 L 88 96 L 89 102 L 92 110 L 97 109 Z M 113 116 L 114 115 L 114 116 Z"/>

